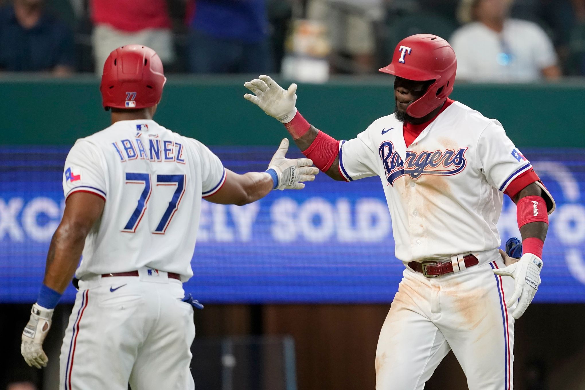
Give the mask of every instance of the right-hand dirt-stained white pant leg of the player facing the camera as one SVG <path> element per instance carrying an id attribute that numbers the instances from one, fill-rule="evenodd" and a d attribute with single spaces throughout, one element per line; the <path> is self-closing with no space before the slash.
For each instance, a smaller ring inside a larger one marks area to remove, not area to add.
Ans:
<path id="1" fill-rule="evenodd" d="M 470 390 L 511 390 L 514 363 L 514 318 L 505 302 L 514 279 L 497 277 L 498 257 L 441 280 L 443 316 L 439 329 L 451 346 Z"/>

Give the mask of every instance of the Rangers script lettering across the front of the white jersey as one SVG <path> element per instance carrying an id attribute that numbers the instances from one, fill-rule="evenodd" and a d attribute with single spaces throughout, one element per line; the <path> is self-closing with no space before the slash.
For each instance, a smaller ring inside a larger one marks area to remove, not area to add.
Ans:
<path id="1" fill-rule="evenodd" d="M 418 179 L 421 175 L 456 175 L 463 171 L 467 164 L 466 151 L 466 147 L 457 151 L 454 149 L 425 150 L 420 153 L 407 151 L 406 161 L 402 161 L 391 141 L 384 141 L 378 148 L 386 171 L 386 180 L 390 185 L 404 175 L 409 175 L 412 179 Z"/>

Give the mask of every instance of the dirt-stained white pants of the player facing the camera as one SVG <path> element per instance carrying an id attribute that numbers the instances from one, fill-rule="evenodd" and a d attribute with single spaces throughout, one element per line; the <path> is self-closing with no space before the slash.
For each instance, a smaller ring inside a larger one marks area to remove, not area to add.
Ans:
<path id="1" fill-rule="evenodd" d="M 453 350 L 470 390 L 513 388 L 514 279 L 501 258 L 426 278 L 405 268 L 376 351 L 376 390 L 419 390 Z"/>

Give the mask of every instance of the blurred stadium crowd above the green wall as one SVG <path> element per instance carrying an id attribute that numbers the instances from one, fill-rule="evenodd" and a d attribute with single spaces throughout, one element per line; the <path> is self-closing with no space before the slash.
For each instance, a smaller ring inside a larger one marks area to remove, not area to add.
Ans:
<path id="1" fill-rule="evenodd" d="M 100 75 L 130 43 L 167 73 L 274 73 L 296 51 L 370 74 L 423 32 L 452 43 L 460 80 L 585 75 L 585 0 L 0 0 L 0 74 Z"/>

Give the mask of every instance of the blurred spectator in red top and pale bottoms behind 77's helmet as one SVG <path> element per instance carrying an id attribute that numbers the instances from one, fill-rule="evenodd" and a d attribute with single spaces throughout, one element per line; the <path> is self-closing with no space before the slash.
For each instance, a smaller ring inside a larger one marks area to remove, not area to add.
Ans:
<path id="1" fill-rule="evenodd" d="M 91 0 L 91 19 L 95 73 L 99 77 L 111 51 L 125 44 L 152 48 L 165 65 L 174 61 L 166 0 Z"/>

